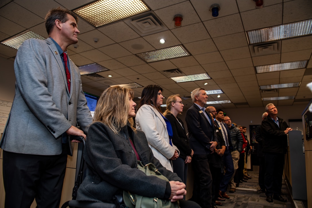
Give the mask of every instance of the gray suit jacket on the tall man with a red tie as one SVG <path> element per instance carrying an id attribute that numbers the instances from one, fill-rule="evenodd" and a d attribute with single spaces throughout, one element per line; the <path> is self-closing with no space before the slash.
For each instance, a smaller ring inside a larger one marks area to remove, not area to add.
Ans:
<path id="1" fill-rule="evenodd" d="M 59 155 L 62 134 L 76 123 L 86 133 L 92 116 L 78 67 L 70 60 L 71 92 L 61 56 L 51 38 L 29 39 L 14 62 L 15 97 L 0 146 L 33 155 Z"/>

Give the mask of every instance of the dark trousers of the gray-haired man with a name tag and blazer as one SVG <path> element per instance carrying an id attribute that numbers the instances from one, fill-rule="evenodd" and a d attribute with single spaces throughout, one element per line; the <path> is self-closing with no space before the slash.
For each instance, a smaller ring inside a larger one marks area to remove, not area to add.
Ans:
<path id="1" fill-rule="evenodd" d="M 209 169 L 210 155 L 193 155 L 192 168 L 194 171 L 194 188 L 191 201 L 202 208 L 211 207 L 212 176 Z"/>

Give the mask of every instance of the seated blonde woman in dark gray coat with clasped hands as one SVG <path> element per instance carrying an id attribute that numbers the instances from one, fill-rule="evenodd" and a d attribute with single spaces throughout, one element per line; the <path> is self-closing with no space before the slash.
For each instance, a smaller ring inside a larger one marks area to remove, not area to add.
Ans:
<path id="1" fill-rule="evenodd" d="M 78 201 L 113 203 L 113 196 L 125 191 L 141 196 L 177 201 L 186 194 L 185 184 L 153 156 L 144 132 L 133 127 L 136 106 L 134 92 L 124 87 L 106 89 L 95 108 L 83 157 L 86 177 L 77 193 Z M 153 163 L 169 182 L 147 176 L 137 169 Z M 180 200 L 181 208 L 199 207 L 195 202 Z"/>

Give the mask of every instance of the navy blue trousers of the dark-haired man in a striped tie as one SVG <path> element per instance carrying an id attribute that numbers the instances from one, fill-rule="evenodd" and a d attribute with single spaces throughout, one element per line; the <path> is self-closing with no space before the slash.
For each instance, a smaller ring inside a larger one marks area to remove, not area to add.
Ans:
<path id="1" fill-rule="evenodd" d="M 225 149 L 224 155 L 222 156 L 222 161 L 225 166 L 225 173 L 223 176 L 221 176 L 220 191 L 226 192 L 227 186 L 231 182 L 230 179 L 234 174 L 234 164 L 230 150 Z"/>

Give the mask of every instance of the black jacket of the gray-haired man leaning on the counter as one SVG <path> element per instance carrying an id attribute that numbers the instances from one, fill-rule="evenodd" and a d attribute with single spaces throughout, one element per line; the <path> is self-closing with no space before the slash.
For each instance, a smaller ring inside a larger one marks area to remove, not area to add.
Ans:
<path id="1" fill-rule="evenodd" d="M 263 119 L 261 123 L 262 151 L 285 154 L 287 151 L 287 135 L 284 131 L 288 128 L 288 125 L 282 118 L 277 118 L 280 126 L 277 126 L 270 116 Z"/>

